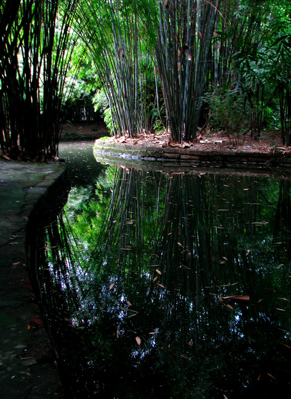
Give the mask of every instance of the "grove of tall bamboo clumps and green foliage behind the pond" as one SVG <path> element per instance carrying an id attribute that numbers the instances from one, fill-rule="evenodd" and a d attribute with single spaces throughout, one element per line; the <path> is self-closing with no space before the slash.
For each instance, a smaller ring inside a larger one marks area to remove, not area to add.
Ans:
<path id="1" fill-rule="evenodd" d="M 287 0 L 3 1 L 1 151 L 54 159 L 76 82 L 104 92 L 115 136 L 267 128 L 291 145 L 290 22 Z"/>

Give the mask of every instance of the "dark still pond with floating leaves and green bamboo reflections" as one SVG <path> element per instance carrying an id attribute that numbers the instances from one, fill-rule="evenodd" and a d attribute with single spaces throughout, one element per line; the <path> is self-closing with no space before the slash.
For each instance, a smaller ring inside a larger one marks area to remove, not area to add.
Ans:
<path id="1" fill-rule="evenodd" d="M 62 146 L 72 188 L 31 251 L 67 396 L 285 398 L 290 175 L 105 165 Z"/>

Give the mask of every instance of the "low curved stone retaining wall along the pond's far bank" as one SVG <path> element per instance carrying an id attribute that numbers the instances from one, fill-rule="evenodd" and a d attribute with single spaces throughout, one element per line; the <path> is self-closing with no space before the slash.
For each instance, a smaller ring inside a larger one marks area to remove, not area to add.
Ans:
<path id="1" fill-rule="evenodd" d="M 131 158 L 141 161 L 172 162 L 174 165 L 186 166 L 198 164 L 207 166 L 211 163 L 221 167 L 291 168 L 291 154 L 275 150 L 273 153 L 249 153 L 244 151 L 202 151 L 194 148 L 147 147 L 131 145 L 129 143 L 110 143 L 95 140 L 93 147 L 95 154 Z M 169 165 L 169 164 L 168 164 Z M 173 165 L 173 166 L 174 166 Z"/>

